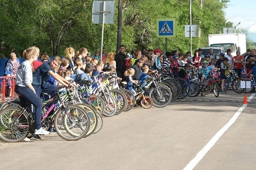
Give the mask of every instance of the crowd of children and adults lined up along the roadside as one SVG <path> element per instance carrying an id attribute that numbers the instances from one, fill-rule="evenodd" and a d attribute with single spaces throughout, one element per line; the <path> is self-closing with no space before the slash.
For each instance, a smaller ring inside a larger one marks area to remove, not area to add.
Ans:
<path id="1" fill-rule="evenodd" d="M 58 84 L 72 87 L 75 84 L 70 83 L 70 80 L 75 80 L 78 84 L 81 80 L 93 82 L 92 77 L 102 71 L 116 71 L 117 76 L 127 82 L 126 89 L 136 95 L 133 84 L 140 83 L 142 87 L 146 86 L 146 79 L 150 77 L 151 71 L 161 70 L 165 77 L 184 77 L 185 69 L 196 67 L 202 83 L 211 69 L 219 69 L 223 80 L 221 93 L 226 93 L 223 90 L 223 84 L 226 75 L 229 74 L 229 68 L 234 67 L 238 76 L 242 68 L 246 69 L 248 77 L 250 74 L 256 76 L 256 50 L 248 49 L 245 57 L 240 55 L 240 51 L 237 51 L 234 57 L 230 49 L 226 52 L 226 55 L 221 53 L 219 57 L 213 53 L 212 49 L 209 50 L 208 55 L 202 55 L 202 49 L 195 50 L 194 55 L 191 55 L 190 51 L 183 54 L 178 50 L 166 51 L 164 55 L 158 48 L 127 52 L 125 45 L 120 45 L 117 54 L 114 52 L 106 54 L 104 49 L 102 55 L 99 55 L 99 51 L 91 55 L 84 47 L 78 51 L 68 47 L 65 50 L 65 57 L 61 59 L 56 56 L 50 61 L 47 54 L 40 55 L 38 47 L 30 47 L 24 50 L 22 63 L 19 62 L 15 53 L 10 53 L 4 73 L 6 76 L 15 77 L 15 92 L 20 98 L 21 105 L 26 107 L 26 102 L 23 102 L 26 100 L 34 105 L 36 130 L 31 135 L 40 139 L 38 134 L 55 132 L 53 125 L 50 131 L 41 127 L 42 93 L 54 96 Z M 10 82 L 7 79 L 6 81 Z M 7 89 L 6 96 L 9 97 L 10 84 L 7 85 Z"/>

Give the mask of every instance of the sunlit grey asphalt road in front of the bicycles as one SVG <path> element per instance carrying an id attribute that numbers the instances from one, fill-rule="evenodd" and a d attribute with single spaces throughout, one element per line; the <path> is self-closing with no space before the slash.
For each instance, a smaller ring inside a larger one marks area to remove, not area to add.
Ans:
<path id="1" fill-rule="evenodd" d="M 164 108 L 137 107 L 104 117 L 100 132 L 78 141 L 49 134 L 40 141 L 0 142 L 0 169 L 178 170 L 194 159 L 188 169 L 256 169 L 256 97 L 208 146 L 237 115 L 243 97 L 228 91 L 218 98 L 186 97 Z"/>

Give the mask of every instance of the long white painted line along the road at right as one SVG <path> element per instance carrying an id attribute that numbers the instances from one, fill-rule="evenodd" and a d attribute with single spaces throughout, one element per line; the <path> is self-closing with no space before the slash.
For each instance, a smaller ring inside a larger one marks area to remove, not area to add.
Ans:
<path id="1" fill-rule="evenodd" d="M 249 98 L 248 102 L 255 96 L 256 93 L 253 93 Z M 198 154 L 187 164 L 187 166 L 183 170 L 192 170 L 198 162 L 204 157 L 204 155 L 214 146 L 214 144 L 218 141 L 218 139 L 228 130 L 228 128 L 236 121 L 238 116 L 242 113 L 242 111 L 246 108 L 248 104 L 242 105 L 238 109 L 238 111 L 234 114 L 234 116 L 228 121 L 228 123 L 222 127 L 214 136 L 213 138 L 198 152 Z"/>

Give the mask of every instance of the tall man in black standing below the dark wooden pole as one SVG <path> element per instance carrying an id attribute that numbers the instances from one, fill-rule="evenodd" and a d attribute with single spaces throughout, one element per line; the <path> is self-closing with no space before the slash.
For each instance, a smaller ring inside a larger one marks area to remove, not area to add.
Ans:
<path id="1" fill-rule="evenodd" d="M 125 81 L 124 71 L 125 71 L 125 59 L 126 55 L 124 54 L 125 46 L 120 45 L 119 53 L 115 56 L 116 61 L 116 73 L 118 77 L 122 77 L 122 81 Z"/>

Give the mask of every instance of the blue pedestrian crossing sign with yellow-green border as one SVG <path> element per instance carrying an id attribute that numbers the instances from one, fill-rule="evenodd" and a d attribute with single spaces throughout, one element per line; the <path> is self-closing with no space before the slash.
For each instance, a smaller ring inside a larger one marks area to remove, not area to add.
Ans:
<path id="1" fill-rule="evenodd" d="M 175 37 L 175 19 L 165 18 L 156 20 L 156 37 Z"/>

